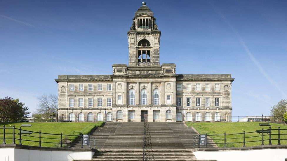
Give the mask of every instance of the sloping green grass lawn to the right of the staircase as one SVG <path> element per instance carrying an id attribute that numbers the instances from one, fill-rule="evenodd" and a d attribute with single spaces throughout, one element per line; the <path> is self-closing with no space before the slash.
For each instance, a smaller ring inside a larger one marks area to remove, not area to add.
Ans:
<path id="1" fill-rule="evenodd" d="M 259 123 L 263 122 L 186 122 L 187 126 L 193 126 L 198 133 L 205 134 L 213 139 L 214 143 L 218 147 L 223 147 L 224 136 L 212 136 L 218 134 L 224 134 L 226 132 L 226 147 L 242 147 L 243 143 L 243 134 L 237 135 L 228 135 L 234 133 L 243 133 L 245 131 L 245 146 L 257 146 L 261 145 L 262 133 L 248 133 L 256 130 L 262 130 L 262 128 L 269 129 L 269 126 L 259 126 Z M 268 123 L 268 122 L 267 122 Z M 270 123 L 272 129 L 286 129 L 280 130 L 280 143 L 281 145 L 287 145 L 287 125 L 286 124 L 278 124 L 278 123 Z M 269 144 L 269 134 L 264 133 L 263 136 L 264 145 Z M 278 130 L 271 130 L 271 140 L 272 144 L 277 145 L 278 143 Z M 283 140 L 286 139 L 286 140 Z M 250 141 L 250 142 L 249 142 Z"/>

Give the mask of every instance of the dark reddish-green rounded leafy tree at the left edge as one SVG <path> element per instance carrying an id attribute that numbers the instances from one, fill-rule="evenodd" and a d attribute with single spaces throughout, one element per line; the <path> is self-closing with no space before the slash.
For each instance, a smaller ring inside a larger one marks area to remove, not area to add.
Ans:
<path id="1" fill-rule="evenodd" d="M 0 99 L 0 121 L 2 122 L 20 122 L 28 118 L 28 107 L 19 102 L 19 99 L 6 97 Z"/>

